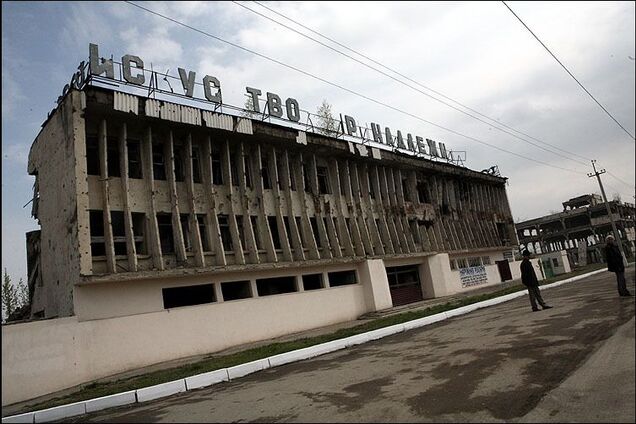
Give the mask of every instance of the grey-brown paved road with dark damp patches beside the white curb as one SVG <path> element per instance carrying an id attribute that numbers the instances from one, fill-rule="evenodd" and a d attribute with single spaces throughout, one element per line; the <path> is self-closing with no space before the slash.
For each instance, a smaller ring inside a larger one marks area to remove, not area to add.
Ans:
<path id="1" fill-rule="evenodd" d="M 75 421 L 635 422 L 634 297 L 609 273 L 543 297 Z"/>

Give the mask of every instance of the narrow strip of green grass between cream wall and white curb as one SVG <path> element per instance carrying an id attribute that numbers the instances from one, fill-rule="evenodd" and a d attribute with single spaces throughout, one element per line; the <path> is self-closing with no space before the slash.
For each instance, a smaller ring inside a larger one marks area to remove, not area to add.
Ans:
<path id="1" fill-rule="evenodd" d="M 571 273 L 546 279 L 541 282 L 541 285 L 550 284 L 566 278 L 571 278 L 586 272 L 604 268 L 605 266 L 605 264 L 593 264 L 581 267 Z M 69 395 L 50 399 L 45 402 L 27 405 L 22 408 L 20 412 L 17 413 L 46 409 L 53 406 L 65 405 L 67 403 L 79 402 L 101 396 L 112 395 L 115 393 L 121 393 L 129 390 L 153 386 L 155 384 L 166 383 L 168 381 L 178 380 L 196 374 L 218 370 L 221 368 L 232 367 L 235 365 L 244 364 L 246 362 L 255 361 L 257 359 L 267 358 L 268 356 L 290 352 L 292 350 L 302 349 L 305 347 L 326 343 L 332 340 L 343 339 L 349 336 L 388 327 L 395 324 L 401 324 L 407 321 L 412 321 L 418 318 L 423 318 L 461 306 L 470 305 L 472 303 L 481 302 L 483 300 L 492 299 L 525 289 L 525 286 L 523 286 L 522 284 L 515 284 L 513 286 L 506 287 L 494 292 L 483 293 L 475 296 L 467 296 L 462 299 L 435 305 L 426 309 L 407 311 L 387 317 L 377 318 L 372 321 L 365 322 L 364 324 L 357 325 L 355 327 L 337 330 L 330 334 L 280 343 L 272 343 L 269 345 L 255 347 L 229 355 L 211 355 L 196 363 L 186 364 L 165 370 L 153 371 L 144 375 L 129 377 L 116 381 L 92 382 L 82 386 L 77 392 L 71 393 Z"/>

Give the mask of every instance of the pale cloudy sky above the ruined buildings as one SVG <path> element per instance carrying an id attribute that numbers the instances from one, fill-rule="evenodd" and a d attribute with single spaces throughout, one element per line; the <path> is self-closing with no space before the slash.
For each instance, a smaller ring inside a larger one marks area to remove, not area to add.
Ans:
<path id="1" fill-rule="evenodd" d="M 319 38 L 254 2 L 240 3 Z M 608 196 L 620 193 L 624 201 L 634 202 L 634 139 L 501 2 L 263 4 L 522 131 L 532 138 L 521 138 L 552 152 L 479 122 L 233 2 L 145 2 L 144 6 L 516 155 L 387 109 L 127 3 L 4 1 L 2 266 L 14 281 L 26 279 L 24 234 L 37 229 L 30 205 L 23 207 L 33 193 L 33 178 L 26 172 L 29 147 L 77 65 L 88 58 L 91 42 L 99 45 L 103 57 L 120 60 L 133 54 L 146 66 L 170 69 L 175 76 L 178 67 L 199 76 L 216 76 L 226 103 L 242 105 L 246 86 L 283 99 L 294 97 L 301 108 L 312 112 L 326 99 L 336 114 L 352 115 L 360 124 L 376 122 L 466 151 L 467 167 L 481 170 L 498 165 L 509 178 L 515 221 L 558 211 L 564 200 L 599 192 L 595 179 L 586 175 L 591 171 L 589 159 L 609 171 L 603 175 Z M 634 134 L 634 2 L 510 2 L 509 6 Z M 421 86 L 419 90 L 434 95 Z"/>

